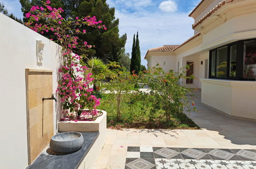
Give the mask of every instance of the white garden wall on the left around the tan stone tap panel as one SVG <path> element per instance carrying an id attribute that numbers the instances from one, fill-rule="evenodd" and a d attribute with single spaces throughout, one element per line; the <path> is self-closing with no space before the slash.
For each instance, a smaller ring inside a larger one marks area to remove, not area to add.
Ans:
<path id="1" fill-rule="evenodd" d="M 60 46 L 1 13 L 0 20 L 0 168 L 25 168 L 28 165 L 25 69 L 52 70 L 55 93 Z M 36 63 L 36 40 L 45 44 L 43 66 Z M 56 112 L 60 107 L 55 102 L 53 105 L 56 133 Z"/>

